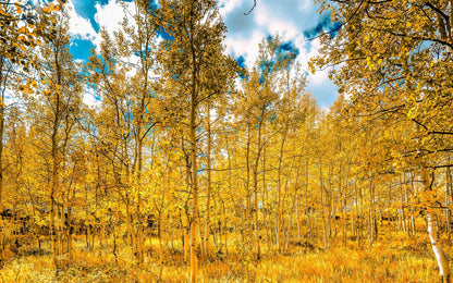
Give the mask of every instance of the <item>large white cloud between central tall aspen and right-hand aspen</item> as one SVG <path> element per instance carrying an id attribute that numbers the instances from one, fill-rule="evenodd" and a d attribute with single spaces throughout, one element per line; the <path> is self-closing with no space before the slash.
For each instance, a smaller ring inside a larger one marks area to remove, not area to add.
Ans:
<path id="1" fill-rule="evenodd" d="M 243 56 L 247 66 L 258 58 L 258 45 L 267 35 L 279 34 L 283 41 L 292 40 L 299 49 L 298 60 L 308 69 L 310 57 L 318 54 L 319 40 L 307 41 L 304 32 L 316 27 L 320 21 L 317 7 L 311 0 L 261 0 L 249 15 L 244 15 L 252 5 L 250 0 L 225 0 L 221 13 L 225 20 L 228 35 L 226 52 Z M 310 46 L 310 48 L 307 48 Z M 336 98 L 336 87 L 328 78 L 328 71 L 308 75 L 307 90 L 313 91 L 322 107 Z"/>

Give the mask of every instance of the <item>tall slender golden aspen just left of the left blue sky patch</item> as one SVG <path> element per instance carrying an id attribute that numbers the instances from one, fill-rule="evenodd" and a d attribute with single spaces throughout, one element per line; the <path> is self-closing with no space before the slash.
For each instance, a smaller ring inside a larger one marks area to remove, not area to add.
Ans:
<path id="1" fill-rule="evenodd" d="M 61 173 L 64 171 L 65 160 L 62 156 L 72 138 L 72 132 L 76 124 L 75 115 L 78 113 L 83 89 L 78 79 L 78 66 L 69 52 L 70 36 L 68 21 L 62 15 L 56 15 L 46 32 L 44 44 L 39 51 L 44 58 L 37 69 L 39 82 L 42 86 L 36 94 L 24 91 L 24 99 L 29 101 L 28 109 L 34 119 L 34 126 L 45 134 L 48 147 L 45 148 L 45 158 L 50 159 L 48 169 L 42 169 L 47 174 L 47 182 L 50 188 L 50 230 L 52 237 L 52 261 L 56 270 L 60 267 L 58 261 L 59 238 L 61 235 L 61 212 L 63 183 Z M 60 211 L 60 218 L 58 212 Z M 56 219 L 57 218 L 57 219 Z"/>

